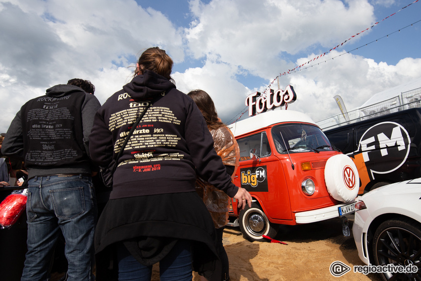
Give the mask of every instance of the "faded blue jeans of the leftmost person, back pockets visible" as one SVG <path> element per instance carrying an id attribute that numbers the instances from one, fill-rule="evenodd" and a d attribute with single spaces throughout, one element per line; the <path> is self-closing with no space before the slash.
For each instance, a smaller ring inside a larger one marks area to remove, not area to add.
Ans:
<path id="1" fill-rule="evenodd" d="M 21 281 L 49 278 L 59 231 L 66 242 L 67 281 L 95 280 L 92 266 L 96 205 L 90 176 L 38 176 L 28 181 L 28 252 Z"/>

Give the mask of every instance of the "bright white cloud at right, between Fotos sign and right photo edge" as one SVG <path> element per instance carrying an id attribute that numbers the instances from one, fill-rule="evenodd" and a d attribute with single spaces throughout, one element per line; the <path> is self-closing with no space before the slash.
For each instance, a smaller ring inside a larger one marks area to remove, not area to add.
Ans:
<path id="1" fill-rule="evenodd" d="M 339 54 L 332 51 L 331 55 Z M 320 65 L 284 78 L 283 82 L 293 85 L 297 92 L 297 101 L 289 109 L 305 112 L 319 121 L 340 113 L 333 99 L 335 95 L 340 95 L 347 110 L 351 111 L 374 94 L 419 77 L 421 58 L 404 58 L 397 65 L 388 65 L 342 52 L 342 56 L 325 63 L 323 60 Z"/>

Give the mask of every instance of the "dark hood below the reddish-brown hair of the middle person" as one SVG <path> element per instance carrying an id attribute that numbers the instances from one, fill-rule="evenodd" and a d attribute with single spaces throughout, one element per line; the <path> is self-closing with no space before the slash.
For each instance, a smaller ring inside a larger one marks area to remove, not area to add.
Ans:
<path id="1" fill-rule="evenodd" d="M 132 81 L 123 86 L 123 90 L 134 100 L 148 100 L 169 91 L 175 85 L 165 77 L 151 70 L 145 70 L 143 74 L 137 75 Z"/>

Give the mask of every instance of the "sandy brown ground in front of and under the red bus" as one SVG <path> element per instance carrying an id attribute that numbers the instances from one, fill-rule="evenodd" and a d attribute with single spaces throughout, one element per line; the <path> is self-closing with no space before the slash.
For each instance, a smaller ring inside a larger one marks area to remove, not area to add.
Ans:
<path id="1" fill-rule="evenodd" d="M 353 266 L 364 263 L 358 257 L 352 233 L 350 237 L 342 235 L 340 219 L 309 225 L 282 225 L 272 238 L 288 245 L 249 242 L 239 227 L 225 228 L 223 243 L 230 262 L 231 281 L 381 281 L 376 274 L 366 276 L 353 272 Z M 329 267 L 334 261 L 343 262 L 351 271 L 342 277 L 333 277 Z M 156 266 L 152 280 L 159 281 Z M 199 280 L 194 274 L 193 281 Z"/>

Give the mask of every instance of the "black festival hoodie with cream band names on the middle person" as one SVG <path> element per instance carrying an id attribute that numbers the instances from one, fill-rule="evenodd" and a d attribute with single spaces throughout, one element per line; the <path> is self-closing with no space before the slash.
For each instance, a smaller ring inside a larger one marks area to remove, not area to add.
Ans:
<path id="1" fill-rule="evenodd" d="M 149 102 L 113 176 L 110 199 L 195 191 L 196 172 L 233 197 L 231 183 L 202 113 L 168 79 L 145 70 L 112 95 L 97 112 L 90 155 L 109 167 L 125 136 Z"/>

